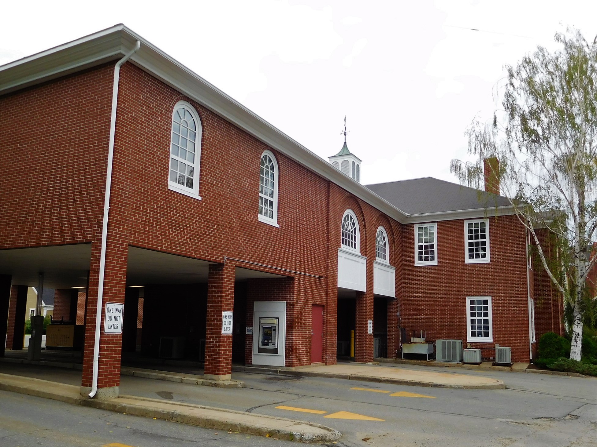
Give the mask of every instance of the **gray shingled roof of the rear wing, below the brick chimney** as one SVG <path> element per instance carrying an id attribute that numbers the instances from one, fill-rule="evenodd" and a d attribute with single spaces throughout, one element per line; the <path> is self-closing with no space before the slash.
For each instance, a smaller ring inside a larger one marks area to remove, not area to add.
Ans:
<path id="1" fill-rule="evenodd" d="M 506 197 L 433 177 L 365 185 L 410 215 L 509 206 Z"/>

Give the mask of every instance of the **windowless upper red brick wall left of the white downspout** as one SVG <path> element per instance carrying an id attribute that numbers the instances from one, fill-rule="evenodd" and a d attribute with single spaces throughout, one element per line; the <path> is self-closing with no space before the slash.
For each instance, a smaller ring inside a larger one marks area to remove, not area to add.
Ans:
<path id="1" fill-rule="evenodd" d="M 0 97 L 0 248 L 99 238 L 112 77 L 104 66 Z"/>

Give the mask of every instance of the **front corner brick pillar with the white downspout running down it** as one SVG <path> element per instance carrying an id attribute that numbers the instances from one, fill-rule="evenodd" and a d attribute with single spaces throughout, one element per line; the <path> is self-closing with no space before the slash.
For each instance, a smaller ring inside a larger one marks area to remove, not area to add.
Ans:
<path id="1" fill-rule="evenodd" d="M 100 356 L 97 378 L 97 398 L 118 396 L 120 384 L 120 361 L 122 334 L 104 334 L 106 303 L 124 305 L 127 281 L 127 244 L 108 240 L 104 291 L 100 322 Z M 100 273 L 100 241 L 91 244 L 89 287 L 87 289 L 87 321 L 85 322 L 85 346 L 81 395 L 88 395 L 93 384 L 93 352 L 96 337 L 97 292 Z"/>

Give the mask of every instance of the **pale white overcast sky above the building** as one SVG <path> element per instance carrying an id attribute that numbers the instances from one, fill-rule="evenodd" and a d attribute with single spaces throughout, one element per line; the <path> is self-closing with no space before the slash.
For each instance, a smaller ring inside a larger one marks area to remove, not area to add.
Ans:
<path id="1" fill-rule="evenodd" d="M 491 118 L 504 64 L 597 1 L 4 2 L 0 64 L 124 23 L 327 160 L 347 144 L 362 183 L 457 182 L 464 131 Z M 476 30 L 471 30 L 476 29 Z"/>

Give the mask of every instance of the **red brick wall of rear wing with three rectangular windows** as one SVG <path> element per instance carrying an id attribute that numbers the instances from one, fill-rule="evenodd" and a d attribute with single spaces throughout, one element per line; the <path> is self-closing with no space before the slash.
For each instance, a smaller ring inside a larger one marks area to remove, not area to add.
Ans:
<path id="1" fill-rule="evenodd" d="M 491 217 L 489 263 L 464 263 L 463 220 L 437 222 L 438 265 L 414 265 L 414 225 L 404 225 L 402 327 L 427 331 L 427 341 L 467 340 L 467 296 L 491 296 L 493 343 L 472 343 L 485 358 L 494 344 L 528 361 L 525 232 L 515 216 Z"/>

